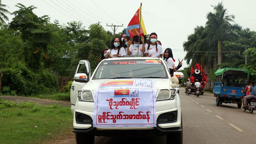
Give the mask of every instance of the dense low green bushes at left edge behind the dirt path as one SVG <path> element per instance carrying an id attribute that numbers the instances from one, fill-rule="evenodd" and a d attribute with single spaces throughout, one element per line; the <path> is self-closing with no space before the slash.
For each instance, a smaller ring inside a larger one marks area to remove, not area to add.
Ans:
<path id="1" fill-rule="evenodd" d="M 2 93 L 5 95 L 32 95 L 57 91 L 57 76 L 46 69 L 34 73 L 25 66 L 18 66 L 3 68 L 2 73 Z"/>

